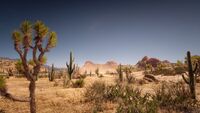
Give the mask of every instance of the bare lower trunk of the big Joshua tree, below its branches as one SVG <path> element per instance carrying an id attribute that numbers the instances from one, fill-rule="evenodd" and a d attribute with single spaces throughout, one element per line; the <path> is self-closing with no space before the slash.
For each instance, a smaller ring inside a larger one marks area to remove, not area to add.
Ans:
<path id="1" fill-rule="evenodd" d="M 36 113 L 36 103 L 35 103 L 35 80 L 31 80 L 29 84 L 30 92 L 30 111 L 31 113 Z"/>

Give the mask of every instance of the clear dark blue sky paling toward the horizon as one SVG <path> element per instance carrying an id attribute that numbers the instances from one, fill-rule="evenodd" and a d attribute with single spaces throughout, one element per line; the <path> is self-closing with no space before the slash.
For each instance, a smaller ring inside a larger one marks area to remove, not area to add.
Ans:
<path id="1" fill-rule="evenodd" d="M 0 56 L 18 58 L 11 33 L 29 19 L 58 34 L 48 64 L 65 67 L 69 51 L 86 60 L 135 64 L 143 56 L 175 62 L 186 51 L 200 54 L 198 0 L 2 0 Z"/>

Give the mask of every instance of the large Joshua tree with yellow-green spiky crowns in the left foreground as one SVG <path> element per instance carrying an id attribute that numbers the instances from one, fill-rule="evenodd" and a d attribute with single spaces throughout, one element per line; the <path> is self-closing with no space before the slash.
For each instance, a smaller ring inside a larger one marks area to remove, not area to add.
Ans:
<path id="1" fill-rule="evenodd" d="M 20 28 L 13 32 L 12 37 L 15 50 L 19 54 L 23 64 L 23 74 L 30 81 L 30 112 L 36 113 L 36 77 L 40 72 L 41 65 L 44 64 L 45 53 L 56 46 L 57 36 L 55 32 L 49 32 L 48 27 L 41 21 L 37 21 L 33 25 L 30 21 L 24 21 Z M 47 43 L 43 45 L 45 40 L 47 40 Z M 31 72 L 27 59 L 30 50 L 32 50 L 32 61 L 34 63 L 33 72 Z"/>

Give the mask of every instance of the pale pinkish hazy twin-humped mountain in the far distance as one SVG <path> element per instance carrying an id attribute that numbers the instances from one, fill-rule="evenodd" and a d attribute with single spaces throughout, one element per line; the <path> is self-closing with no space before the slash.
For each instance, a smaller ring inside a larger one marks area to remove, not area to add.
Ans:
<path id="1" fill-rule="evenodd" d="M 97 64 L 92 61 L 86 61 L 85 64 L 80 68 L 80 73 L 95 73 L 95 70 L 98 68 L 101 74 L 106 72 L 116 72 L 118 64 L 115 61 L 107 61 L 105 64 Z"/>

